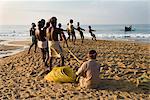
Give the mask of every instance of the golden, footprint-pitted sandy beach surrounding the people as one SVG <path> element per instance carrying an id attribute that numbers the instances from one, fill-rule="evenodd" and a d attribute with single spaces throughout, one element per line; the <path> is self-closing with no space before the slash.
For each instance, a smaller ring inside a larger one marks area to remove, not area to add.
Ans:
<path id="1" fill-rule="evenodd" d="M 97 51 L 97 62 L 101 66 L 98 89 L 78 89 L 76 83 L 47 82 L 45 74 L 41 74 L 45 67 L 40 49 L 34 53 L 33 47 L 30 54 L 25 50 L 0 58 L 0 99 L 150 99 L 150 44 L 106 40 L 85 40 L 81 44 L 81 40 L 77 40 L 76 45 L 69 42 L 69 49 L 80 60 L 86 59 L 89 50 Z M 58 63 L 59 60 L 54 60 L 53 66 Z M 67 52 L 65 65 L 79 67 Z"/>

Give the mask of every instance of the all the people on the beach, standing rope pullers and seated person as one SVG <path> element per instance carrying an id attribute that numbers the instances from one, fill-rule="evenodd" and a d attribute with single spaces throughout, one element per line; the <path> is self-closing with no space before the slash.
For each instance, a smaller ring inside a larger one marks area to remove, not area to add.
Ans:
<path id="1" fill-rule="evenodd" d="M 74 29 L 76 29 L 79 31 L 83 43 L 84 35 L 82 30 L 84 29 L 80 27 L 79 22 L 77 28 L 74 28 L 72 23 L 73 20 L 71 19 L 70 23 L 68 24 L 68 26 L 70 27 L 68 27 L 68 30 L 66 30 L 68 32 L 67 39 L 70 39 L 70 36 L 72 36 L 72 41 L 75 44 L 76 35 Z M 44 19 L 41 19 L 38 22 L 37 27 L 34 23 L 32 23 L 32 28 L 30 29 L 30 35 L 32 36 L 32 45 L 28 50 L 28 54 L 30 53 L 30 50 L 33 45 L 35 45 L 34 52 L 36 52 L 36 48 L 38 46 L 41 49 L 42 60 L 45 66 L 47 67 L 47 71 L 50 71 L 52 69 L 52 60 L 55 57 L 61 58 L 60 66 L 64 66 L 64 55 L 61 45 L 59 43 L 59 39 L 63 40 L 67 47 L 68 44 L 67 39 L 63 32 L 64 30 L 61 28 L 61 24 L 59 23 L 58 26 L 59 27 L 57 28 L 57 18 L 52 17 L 46 23 L 46 25 Z M 93 34 L 92 31 L 94 30 L 92 30 L 91 27 L 89 27 L 89 32 L 91 34 Z M 97 53 L 95 50 L 89 51 L 88 53 L 89 60 L 84 62 L 79 68 L 79 70 L 76 72 L 77 75 L 82 76 L 82 78 L 80 78 L 81 87 L 95 88 L 95 86 L 97 86 L 96 81 L 99 76 L 99 65 L 96 63 L 96 55 Z M 48 62 L 50 62 L 49 65 Z"/>

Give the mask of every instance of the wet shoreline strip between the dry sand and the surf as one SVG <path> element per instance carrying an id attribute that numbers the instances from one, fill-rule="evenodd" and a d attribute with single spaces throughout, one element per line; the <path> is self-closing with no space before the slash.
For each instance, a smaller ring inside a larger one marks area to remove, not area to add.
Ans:
<path id="1" fill-rule="evenodd" d="M 77 41 L 80 41 L 81 39 L 77 39 Z M 91 40 L 90 38 L 85 40 Z M 141 45 L 149 45 L 149 42 L 140 42 L 140 41 L 127 41 L 127 40 L 105 40 L 105 39 L 98 39 L 97 41 L 110 41 L 110 42 L 126 42 L 126 43 L 135 43 L 135 44 L 141 44 Z M 19 52 L 25 51 L 27 48 L 29 48 L 31 42 L 29 39 L 25 39 L 23 41 L 21 40 L 0 40 L 0 58 L 8 57 L 14 54 L 17 54 Z"/>

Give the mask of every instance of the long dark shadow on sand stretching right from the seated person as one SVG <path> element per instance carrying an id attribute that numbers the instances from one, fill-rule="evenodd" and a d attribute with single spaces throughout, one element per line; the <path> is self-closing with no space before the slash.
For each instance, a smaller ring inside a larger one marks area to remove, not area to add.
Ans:
<path id="1" fill-rule="evenodd" d="M 114 79 L 101 79 L 99 82 L 98 90 L 112 90 L 112 91 L 122 91 L 122 92 L 134 92 L 134 93 L 144 93 L 149 94 L 150 89 L 143 89 L 137 87 L 135 84 L 128 82 L 126 80 L 114 80 Z"/>

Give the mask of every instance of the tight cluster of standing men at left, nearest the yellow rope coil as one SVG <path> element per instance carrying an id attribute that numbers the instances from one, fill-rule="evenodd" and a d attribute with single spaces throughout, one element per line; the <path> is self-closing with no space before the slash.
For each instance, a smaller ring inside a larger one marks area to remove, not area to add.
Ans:
<path id="1" fill-rule="evenodd" d="M 30 35 L 32 36 L 32 44 L 29 48 L 28 54 L 33 45 L 35 45 L 35 51 L 37 46 L 41 49 L 42 52 L 42 60 L 47 67 L 47 70 L 51 70 L 52 68 L 52 60 L 54 57 L 61 58 L 61 66 L 64 66 L 64 55 L 62 52 L 62 48 L 59 44 L 59 36 L 60 40 L 63 40 L 67 44 L 66 37 L 61 29 L 61 24 L 59 24 L 59 28 L 56 27 L 57 18 L 52 17 L 49 22 L 46 23 L 45 20 L 41 19 L 37 27 L 34 23 L 32 23 L 32 28 L 30 29 Z M 67 44 L 68 46 L 68 44 Z M 48 61 L 50 65 L 48 65 Z"/>

